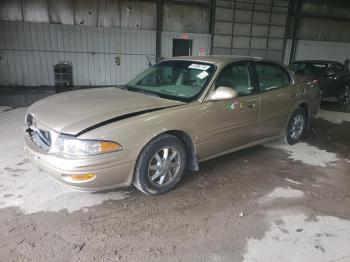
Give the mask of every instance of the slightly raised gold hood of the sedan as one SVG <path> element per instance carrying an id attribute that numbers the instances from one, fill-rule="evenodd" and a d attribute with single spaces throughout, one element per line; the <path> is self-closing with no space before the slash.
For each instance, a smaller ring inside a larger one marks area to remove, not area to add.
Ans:
<path id="1" fill-rule="evenodd" d="M 66 92 L 34 103 L 28 113 L 44 126 L 76 135 L 113 118 L 135 116 L 182 102 L 135 93 L 120 88 L 94 88 Z"/>

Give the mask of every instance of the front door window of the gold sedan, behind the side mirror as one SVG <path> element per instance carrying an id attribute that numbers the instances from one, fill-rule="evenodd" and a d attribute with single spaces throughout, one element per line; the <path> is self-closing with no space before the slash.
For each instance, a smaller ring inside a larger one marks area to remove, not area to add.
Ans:
<path id="1" fill-rule="evenodd" d="M 233 65 L 226 69 L 216 81 L 216 87 L 233 88 L 238 96 L 247 96 L 253 93 L 250 70 L 248 64 Z"/>

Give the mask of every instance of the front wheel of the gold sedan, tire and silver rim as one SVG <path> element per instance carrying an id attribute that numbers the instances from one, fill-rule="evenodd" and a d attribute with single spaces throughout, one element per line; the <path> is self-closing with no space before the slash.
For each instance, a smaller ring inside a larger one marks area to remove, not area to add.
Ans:
<path id="1" fill-rule="evenodd" d="M 176 136 L 161 135 L 141 151 L 133 185 L 147 195 L 160 195 L 173 189 L 185 173 L 187 153 Z"/>

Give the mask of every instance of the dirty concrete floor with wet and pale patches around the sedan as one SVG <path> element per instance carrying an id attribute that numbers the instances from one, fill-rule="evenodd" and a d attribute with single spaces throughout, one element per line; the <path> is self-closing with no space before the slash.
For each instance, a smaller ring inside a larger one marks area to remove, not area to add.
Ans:
<path id="1" fill-rule="evenodd" d="M 350 261 L 349 113 L 321 111 L 301 143 L 205 162 L 149 197 L 36 171 L 24 112 L 0 107 L 0 261 Z"/>

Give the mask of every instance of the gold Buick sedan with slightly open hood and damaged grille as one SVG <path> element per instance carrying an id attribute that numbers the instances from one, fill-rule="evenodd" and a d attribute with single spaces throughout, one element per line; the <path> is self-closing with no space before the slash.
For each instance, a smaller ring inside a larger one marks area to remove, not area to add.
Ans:
<path id="1" fill-rule="evenodd" d="M 81 191 L 174 188 L 199 162 L 282 138 L 294 144 L 319 108 L 319 88 L 282 64 L 249 57 L 162 61 L 123 87 L 54 95 L 26 114 L 25 151 Z"/>

